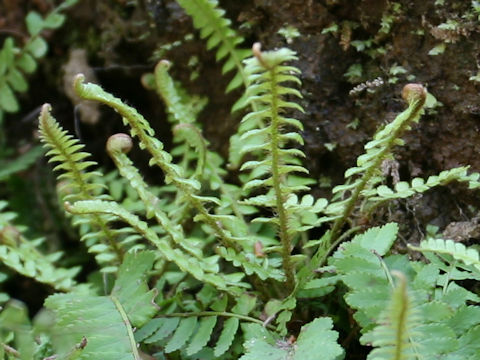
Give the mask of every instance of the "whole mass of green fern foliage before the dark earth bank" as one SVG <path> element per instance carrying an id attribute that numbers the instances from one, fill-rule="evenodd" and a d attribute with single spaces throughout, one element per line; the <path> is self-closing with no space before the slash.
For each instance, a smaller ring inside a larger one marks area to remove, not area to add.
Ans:
<path id="1" fill-rule="evenodd" d="M 168 61 L 143 83 L 165 105 L 171 151 L 135 108 L 78 75 L 77 95 L 115 110 L 130 133 L 109 138 L 117 171 L 104 176 L 49 105 L 40 114 L 61 203 L 97 267 L 85 267 L 88 280 L 80 282 L 79 269 L 60 263 L 60 253 L 43 255 L 43 240 L 28 240 L 0 202 L 0 282 L 13 271 L 63 292 L 49 296 L 32 322 L 21 305 L 7 303 L 0 359 L 340 360 L 350 355 L 340 345 L 351 339 L 345 331 L 359 334 L 368 359 L 477 359 L 480 297 L 469 284 L 480 278 L 478 250 L 435 237 L 404 249 L 395 244 L 399 225 L 364 229 L 363 220 L 392 200 L 452 181 L 480 187 L 480 174 L 467 167 L 387 185 L 382 165 L 394 161 L 401 136 L 419 121 L 425 88 L 405 86 L 407 109 L 376 132 L 329 200 L 317 198 L 309 193 L 315 181 L 300 176 L 308 171 L 295 118 L 303 112 L 296 102 L 300 70 L 290 65 L 295 52 L 262 52 L 257 43 L 247 58 L 217 1 L 179 3 L 225 59 L 224 72 L 236 69 L 228 90 L 245 86 L 235 108 L 251 110 L 232 137 L 230 166 L 209 149 L 197 122 L 207 100 L 188 94 Z M 397 3 L 389 9 L 378 34 L 391 30 L 400 11 Z M 32 35 L 46 21 L 30 16 Z M 135 141 L 164 183 L 143 178 L 129 156 Z M 8 296 L 0 293 L 0 300 Z"/>

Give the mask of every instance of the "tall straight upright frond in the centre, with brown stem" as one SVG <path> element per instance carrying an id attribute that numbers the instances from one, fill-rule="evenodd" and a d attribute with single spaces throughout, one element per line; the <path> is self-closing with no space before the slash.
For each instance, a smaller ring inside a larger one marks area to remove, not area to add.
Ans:
<path id="1" fill-rule="evenodd" d="M 242 153 L 261 151 L 264 159 L 248 161 L 241 170 L 252 170 L 252 179 L 244 184 L 244 190 L 266 187 L 269 191 L 262 196 L 260 202 L 271 208 L 277 215 L 275 218 L 257 218 L 254 221 L 270 222 L 278 227 L 282 245 L 283 269 L 287 278 L 287 287 L 295 287 L 294 266 L 291 261 L 292 240 L 298 229 L 292 226 L 292 208 L 285 205 L 288 197 L 295 191 L 306 190 L 304 186 L 290 186 L 287 182 L 289 174 L 293 172 L 308 173 L 298 163 L 299 157 L 304 157 L 302 151 L 287 147 L 292 142 L 303 144 L 303 139 L 297 132 L 288 128 L 302 130 L 302 124 L 292 118 L 287 118 L 284 112 L 295 109 L 303 112 L 300 105 L 285 100 L 286 96 L 302 97 L 300 92 L 285 85 L 286 82 L 299 84 L 296 74 L 300 72 L 295 67 L 283 65 L 287 61 L 295 60 L 295 53 L 283 48 L 271 52 L 261 52 L 260 44 L 253 47 L 255 57 L 245 60 L 245 71 L 248 75 L 246 101 L 256 102 L 258 110 L 247 114 L 242 123 L 266 123 L 263 128 L 254 128 L 245 132 L 241 139 L 259 139 L 256 145 L 246 145 Z M 259 145 L 258 145 L 259 144 Z M 246 199 L 246 204 L 258 204 L 258 198 Z"/>

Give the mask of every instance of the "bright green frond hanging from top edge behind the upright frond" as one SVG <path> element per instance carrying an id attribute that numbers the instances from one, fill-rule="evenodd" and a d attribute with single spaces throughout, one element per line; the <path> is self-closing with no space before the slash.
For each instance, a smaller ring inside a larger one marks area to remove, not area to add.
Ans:
<path id="1" fill-rule="evenodd" d="M 251 52 L 245 49 L 237 49 L 237 46 L 243 43 L 243 38 L 239 36 L 230 25 L 231 21 L 224 17 L 225 10 L 218 6 L 217 0 L 177 0 L 181 7 L 185 9 L 188 15 L 193 19 L 193 25 L 200 30 L 202 39 L 207 39 L 207 49 L 217 48 L 217 61 L 226 58 L 222 68 L 222 73 L 228 73 L 236 69 L 234 78 L 227 87 L 227 92 L 241 86 L 246 86 L 247 77 L 245 75 L 242 60 L 248 57 Z"/>

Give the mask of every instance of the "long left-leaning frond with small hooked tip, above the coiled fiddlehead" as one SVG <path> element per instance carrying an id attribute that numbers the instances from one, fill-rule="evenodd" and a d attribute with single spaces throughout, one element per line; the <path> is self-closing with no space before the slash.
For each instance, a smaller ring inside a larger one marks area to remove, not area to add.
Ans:
<path id="1" fill-rule="evenodd" d="M 214 215 L 207 210 L 207 204 L 218 204 L 218 199 L 196 194 L 200 190 L 200 183 L 197 180 L 185 178 L 182 168 L 172 163 L 172 156 L 163 150 L 163 144 L 154 137 L 155 132 L 145 118 L 134 108 L 125 105 L 120 99 L 105 92 L 100 86 L 91 83 L 84 84 L 83 80 L 83 75 L 77 75 L 74 82 L 77 94 L 86 100 L 96 100 L 115 109 L 122 116 L 124 123 L 130 126 L 132 137 L 138 137 L 140 148 L 146 149 L 150 153 L 152 157 L 150 165 L 159 166 L 165 174 L 165 182 L 173 184 L 182 193 L 185 201 L 197 211 L 194 220 L 205 223 L 223 247 L 235 252 L 236 266 L 247 266 L 249 271 L 253 270 L 255 273 L 261 273 L 262 275 L 259 274 L 259 276 L 263 278 L 266 274 L 265 269 L 257 263 L 250 262 L 245 254 L 240 251 L 241 246 L 248 248 L 248 239 L 233 236 L 222 225 L 225 218 L 234 220 L 234 217 Z M 222 252 L 219 253 L 222 254 Z M 274 272 L 274 275 L 277 275 L 277 273 Z"/>

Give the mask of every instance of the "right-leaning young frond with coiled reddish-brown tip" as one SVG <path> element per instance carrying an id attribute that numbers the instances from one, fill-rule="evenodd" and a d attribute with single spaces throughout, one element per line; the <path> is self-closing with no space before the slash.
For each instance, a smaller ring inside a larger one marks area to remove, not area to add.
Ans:
<path id="1" fill-rule="evenodd" d="M 382 161 L 391 153 L 393 146 L 404 144 L 400 136 L 410 129 L 412 123 L 418 122 L 423 113 L 423 105 L 427 96 L 423 86 L 418 84 L 406 85 L 402 96 L 407 101 L 408 108 L 398 115 L 393 122 L 375 134 L 374 139 L 365 145 L 365 154 L 358 157 L 357 166 L 345 172 L 346 179 L 356 174 L 361 174 L 361 176 L 346 185 L 337 186 L 333 189 L 334 194 L 343 194 L 343 200 L 330 204 L 326 210 L 330 219 L 335 219 L 330 244 L 337 240 L 362 192 L 367 188 L 369 182 L 374 180 Z M 324 250 L 320 249 L 320 251 Z"/>

